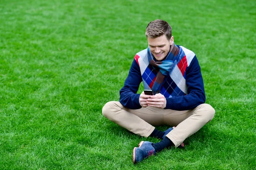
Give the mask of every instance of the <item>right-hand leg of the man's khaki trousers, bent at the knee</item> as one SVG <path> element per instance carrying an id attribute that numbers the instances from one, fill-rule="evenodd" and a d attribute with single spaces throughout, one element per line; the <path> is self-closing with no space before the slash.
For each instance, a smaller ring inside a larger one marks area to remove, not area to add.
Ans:
<path id="1" fill-rule="evenodd" d="M 205 124 L 211 121 L 214 115 L 215 110 L 209 104 L 201 104 L 195 109 L 182 112 L 166 110 L 164 117 L 165 124 L 177 125 L 166 137 L 177 147 L 186 138 L 196 133 Z"/>

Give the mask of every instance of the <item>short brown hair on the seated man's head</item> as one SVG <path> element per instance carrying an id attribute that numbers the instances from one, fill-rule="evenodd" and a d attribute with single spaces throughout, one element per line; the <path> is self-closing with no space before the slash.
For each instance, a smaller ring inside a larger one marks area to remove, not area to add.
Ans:
<path id="1" fill-rule="evenodd" d="M 145 35 L 151 38 L 166 35 L 167 40 L 170 40 L 172 37 L 172 27 L 164 20 L 153 20 L 148 23 Z"/>

